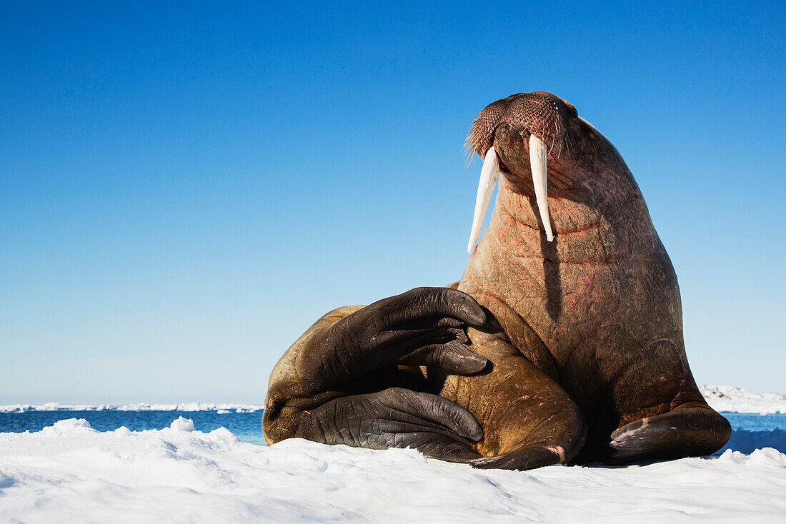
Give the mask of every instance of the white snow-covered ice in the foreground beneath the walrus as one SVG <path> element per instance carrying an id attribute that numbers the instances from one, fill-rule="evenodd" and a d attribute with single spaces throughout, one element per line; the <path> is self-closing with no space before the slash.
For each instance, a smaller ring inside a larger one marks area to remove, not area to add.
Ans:
<path id="1" fill-rule="evenodd" d="M 786 522 L 786 455 L 481 471 L 411 449 L 230 431 L 0 434 L 0 522 Z"/>

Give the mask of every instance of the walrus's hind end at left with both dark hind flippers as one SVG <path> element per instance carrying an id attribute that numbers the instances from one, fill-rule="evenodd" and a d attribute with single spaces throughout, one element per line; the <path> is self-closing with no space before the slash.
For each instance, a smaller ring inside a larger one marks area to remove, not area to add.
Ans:
<path id="1" fill-rule="evenodd" d="M 467 454 L 474 419 L 472 427 L 466 421 L 451 425 L 472 415 L 413 390 L 435 393 L 417 366 L 481 371 L 487 360 L 465 347 L 465 329 L 486 320 L 475 299 L 449 288 L 417 288 L 327 313 L 270 375 L 266 442 L 303 437 L 364 447 L 410 446 L 446 460 L 477 457 Z"/>

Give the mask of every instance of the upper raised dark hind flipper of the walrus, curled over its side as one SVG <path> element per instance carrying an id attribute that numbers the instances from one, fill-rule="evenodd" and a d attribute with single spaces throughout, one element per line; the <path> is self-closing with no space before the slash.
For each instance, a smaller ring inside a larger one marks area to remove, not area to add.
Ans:
<path id="1" fill-rule="evenodd" d="M 286 386 L 292 398 L 311 397 L 397 364 L 454 373 L 479 372 L 486 365 L 462 345 L 467 325 L 483 325 L 486 314 L 456 289 L 415 288 L 336 317 L 328 313 L 292 345 L 270 376 L 274 390 Z M 281 365 L 292 379 L 280 379 Z"/>

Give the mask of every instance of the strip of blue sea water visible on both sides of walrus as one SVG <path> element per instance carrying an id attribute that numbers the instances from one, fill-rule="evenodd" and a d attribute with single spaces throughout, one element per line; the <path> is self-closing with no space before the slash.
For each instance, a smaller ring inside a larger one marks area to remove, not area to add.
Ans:
<path id="1" fill-rule="evenodd" d="M 243 442 L 265 445 L 262 434 L 262 411 L 219 412 L 219 411 L 122 411 L 102 410 L 57 410 L 28 411 L 19 413 L 0 412 L 0 433 L 41 431 L 58 420 L 85 419 L 97 431 L 114 431 L 125 426 L 131 431 L 160 430 L 168 427 L 172 420 L 182 416 L 193 420 L 197 431 L 213 431 L 226 427 Z M 724 412 L 734 433 L 725 449 L 751 453 L 754 449 L 771 447 L 786 453 L 786 413 L 757 415 L 751 413 Z M 718 452 L 720 453 L 720 452 Z"/>

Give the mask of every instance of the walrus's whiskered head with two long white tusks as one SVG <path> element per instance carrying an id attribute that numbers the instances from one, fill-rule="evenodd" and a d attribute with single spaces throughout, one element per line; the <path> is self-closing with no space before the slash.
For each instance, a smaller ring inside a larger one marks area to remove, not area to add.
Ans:
<path id="1" fill-rule="evenodd" d="M 513 94 L 483 108 L 466 142 L 469 154 L 483 159 L 467 251 L 478 239 L 500 172 L 514 191 L 534 192 L 546 240 L 553 240 L 547 187 L 567 190 L 580 181 L 574 167 L 587 128 L 594 131 L 573 105 L 545 91 Z"/>

